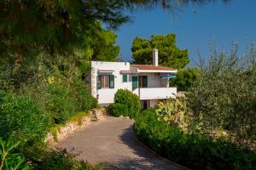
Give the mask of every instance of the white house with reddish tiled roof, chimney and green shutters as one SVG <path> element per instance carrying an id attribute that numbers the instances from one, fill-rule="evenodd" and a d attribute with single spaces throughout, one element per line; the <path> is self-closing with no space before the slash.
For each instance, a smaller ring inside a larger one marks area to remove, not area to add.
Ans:
<path id="1" fill-rule="evenodd" d="M 158 65 L 157 49 L 153 51 L 153 65 L 91 61 L 91 94 L 100 105 L 108 105 L 119 88 L 128 89 L 139 96 L 145 109 L 160 99 L 175 98 L 177 88 L 169 87 L 173 73 L 177 69 Z"/>

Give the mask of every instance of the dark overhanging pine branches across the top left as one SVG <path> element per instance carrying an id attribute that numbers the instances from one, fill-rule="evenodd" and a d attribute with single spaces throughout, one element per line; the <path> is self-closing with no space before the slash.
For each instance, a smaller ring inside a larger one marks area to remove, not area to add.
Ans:
<path id="1" fill-rule="evenodd" d="M 130 18 L 125 9 L 183 7 L 214 0 L 2 0 L 0 1 L 0 51 L 20 61 L 45 51 L 68 54 L 84 46 L 86 30 L 98 21 L 117 28 Z M 226 1 L 226 0 L 223 0 Z"/>

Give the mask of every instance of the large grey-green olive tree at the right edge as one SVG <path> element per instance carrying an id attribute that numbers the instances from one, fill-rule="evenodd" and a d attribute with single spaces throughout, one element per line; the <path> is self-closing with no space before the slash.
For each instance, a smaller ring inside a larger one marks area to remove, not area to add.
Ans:
<path id="1" fill-rule="evenodd" d="M 237 44 L 230 54 L 215 48 L 208 64 L 201 61 L 202 75 L 190 88 L 189 106 L 195 121 L 206 133 L 224 128 L 236 139 L 255 139 L 256 52 L 254 45 L 243 59 L 237 54 Z"/>

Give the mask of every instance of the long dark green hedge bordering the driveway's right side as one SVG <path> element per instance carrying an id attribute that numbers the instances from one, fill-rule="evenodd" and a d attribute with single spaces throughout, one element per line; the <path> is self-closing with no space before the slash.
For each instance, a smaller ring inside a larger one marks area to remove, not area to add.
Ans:
<path id="1" fill-rule="evenodd" d="M 256 152 L 226 139 L 185 134 L 177 127 L 158 121 L 155 111 L 137 116 L 138 139 L 161 156 L 192 169 L 255 169 Z"/>

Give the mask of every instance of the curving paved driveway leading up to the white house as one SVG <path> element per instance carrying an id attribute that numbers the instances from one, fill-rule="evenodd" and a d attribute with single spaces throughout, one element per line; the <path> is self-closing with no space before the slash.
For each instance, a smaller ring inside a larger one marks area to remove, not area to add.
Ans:
<path id="1" fill-rule="evenodd" d="M 102 162 L 104 169 L 185 169 L 154 155 L 139 143 L 132 124 L 133 120 L 128 118 L 106 116 L 61 140 L 57 147 L 81 152 L 80 158 L 91 163 Z"/>

